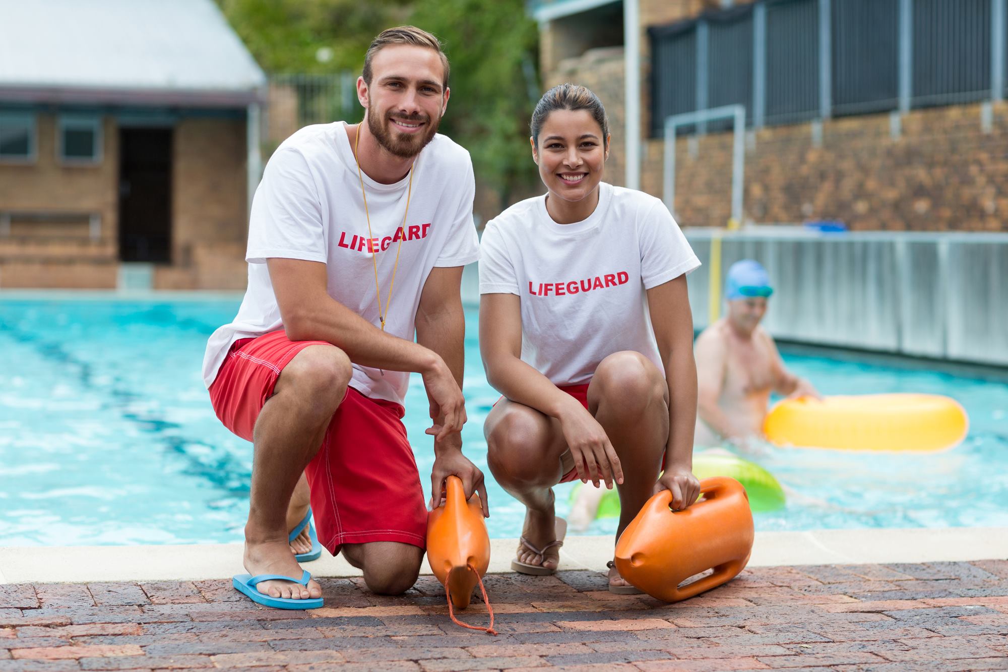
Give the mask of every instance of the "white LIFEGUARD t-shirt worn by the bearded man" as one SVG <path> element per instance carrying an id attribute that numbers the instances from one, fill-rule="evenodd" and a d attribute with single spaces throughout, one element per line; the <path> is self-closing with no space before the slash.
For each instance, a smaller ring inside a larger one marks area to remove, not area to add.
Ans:
<path id="1" fill-rule="evenodd" d="M 347 124 L 306 126 L 270 157 L 252 201 L 248 289 L 238 316 L 210 337 L 203 363 L 208 387 L 231 344 L 281 329 L 280 310 L 266 268 L 269 257 L 327 264 L 329 295 L 375 326 L 378 301 L 372 253 L 384 307 L 395 265 L 409 176 L 394 185 L 365 174 L 372 235 L 361 198 L 357 162 Z M 473 224 L 476 186 L 469 152 L 434 135 L 413 164 L 412 198 L 385 331 L 413 340 L 420 292 L 434 266 L 462 266 L 479 258 Z M 409 373 L 354 364 L 351 386 L 372 399 L 402 404 Z"/>

